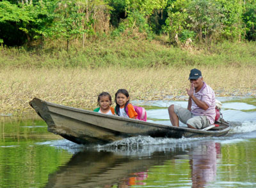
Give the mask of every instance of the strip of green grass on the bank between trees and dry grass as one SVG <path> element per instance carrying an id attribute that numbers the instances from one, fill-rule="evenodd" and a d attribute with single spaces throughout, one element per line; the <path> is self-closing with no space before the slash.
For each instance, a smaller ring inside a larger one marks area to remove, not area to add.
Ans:
<path id="1" fill-rule="evenodd" d="M 184 66 L 256 66 L 256 42 L 221 43 L 211 48 L 178 48 L 161 41 L 100 40 L 70 52 L 0 48 L 0 66 L 19 68 L 157 68 Z"/>

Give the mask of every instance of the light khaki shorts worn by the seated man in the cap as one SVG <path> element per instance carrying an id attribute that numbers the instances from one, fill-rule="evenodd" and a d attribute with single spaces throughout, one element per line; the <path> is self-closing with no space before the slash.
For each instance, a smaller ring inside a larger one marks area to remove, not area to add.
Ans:
<path id="1" fill-rule="evenodd" d="M 205 115 L 195 116 L 188 109 L 177 105 L 174 105 L 174 112 L 182 123 L 189 124 L 196 129 L 204 129 L 205 127 L 211 126 Z"/>

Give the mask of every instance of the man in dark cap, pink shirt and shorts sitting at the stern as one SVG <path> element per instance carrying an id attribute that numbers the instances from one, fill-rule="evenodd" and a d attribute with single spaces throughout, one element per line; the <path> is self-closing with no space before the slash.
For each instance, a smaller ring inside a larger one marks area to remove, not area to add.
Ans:
<path id="1" fill-rule="evenodd" d="M 215 94 L 207 85 L 198 69 L 191 69 L 189 74 L 190 89 L 186 89 L 189 96 L 188 109 L 178 105 L 168 108 L 172 126 L 179 127 L 180 122 L 192 129 L 204 129 L 214 124 Z"/>

